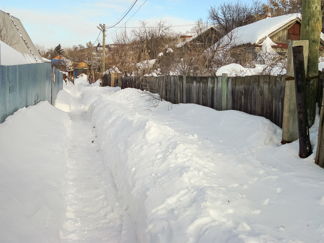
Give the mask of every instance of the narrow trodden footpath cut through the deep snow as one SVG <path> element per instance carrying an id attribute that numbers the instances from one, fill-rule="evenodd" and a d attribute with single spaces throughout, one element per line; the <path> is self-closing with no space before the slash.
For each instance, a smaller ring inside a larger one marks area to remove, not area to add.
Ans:
<path id="1" fill-rule="evenodd" d="M 60 237 L 62 242 L 124 242 L 117 189 L 105 169 L 96 128 L 84 110 L 81 96 L 71 95 L 74 105 L 68 112 L 67 212 Z"/>

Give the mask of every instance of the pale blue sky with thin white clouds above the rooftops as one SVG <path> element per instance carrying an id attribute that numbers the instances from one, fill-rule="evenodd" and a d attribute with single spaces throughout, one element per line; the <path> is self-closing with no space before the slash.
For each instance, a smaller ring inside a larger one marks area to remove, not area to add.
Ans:
<path id="1" fill-rule="evenodd" d="M 47 49 L 60 43 L 66 48 L 85 45 L 89 41 L 93 43 L 98 36 L 98 41 L 102 42 L 102 34 L 99 35 L 100 30 L 97 29 L 99 23 L 112 26 L 134 1 L 6 0 L 0 3 L 0 9 L 21 20 L 34 44 L 44 45 Z M 210 6 L 223 2 L 228 0 L 137 0 L 117 27 L 125 26 L 129 18 L 126 27 L 138 27 L 139 20 L 153 24 L 160 19 L 169 21 L 173 26 L 191 25 L 200 18 L 206 20 Z M 191 27 L 174 27 L 174 30 L 185 33 Z M 115 30 L 111 28 L 106 31 L 106 44 L 113 42 Z"/>

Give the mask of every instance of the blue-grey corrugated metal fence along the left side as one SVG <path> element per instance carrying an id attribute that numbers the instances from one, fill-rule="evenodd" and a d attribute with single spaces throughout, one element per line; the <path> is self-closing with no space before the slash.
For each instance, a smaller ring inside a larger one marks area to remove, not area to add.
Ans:
<path id="1" fill-rule="evenodd" d="M 63 88 L 63 73 L 53 69 L 55 82 L 52 92 L 50 63 L 0 66 L 0 123 L 19 108 L 48 100 L 53 103 Z"/>

